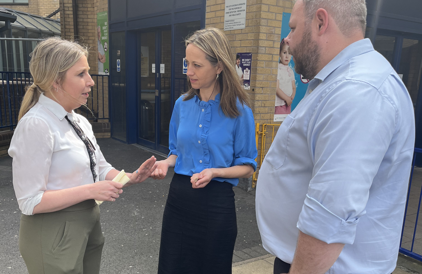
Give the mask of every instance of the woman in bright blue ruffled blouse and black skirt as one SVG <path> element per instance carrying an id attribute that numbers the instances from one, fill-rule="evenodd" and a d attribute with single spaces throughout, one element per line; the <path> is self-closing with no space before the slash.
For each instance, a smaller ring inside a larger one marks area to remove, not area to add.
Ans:
<path id="1" fill-rule="evenodd" d="M 237 235 L 233 186 L 256 169 L 255 123 L 248 94 L 217 28 L 186 40 L 191 89 L 177 99 L 169 157 L 151 175 L 174 167 L 164 210 L 158 273 L 231 273 Z"/>

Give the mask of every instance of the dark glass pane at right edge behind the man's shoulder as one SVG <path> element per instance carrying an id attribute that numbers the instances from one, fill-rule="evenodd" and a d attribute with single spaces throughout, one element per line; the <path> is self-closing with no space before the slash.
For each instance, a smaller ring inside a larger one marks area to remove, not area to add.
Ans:
<path id="1" fill-rule="evenodd" d="M 420 85 L 422 72 L 422 41 L 403 39 L 400 67 L 397 72 L 402 77 L 412 98 L 413 106 L 416 106 L 417 93 Z"/>

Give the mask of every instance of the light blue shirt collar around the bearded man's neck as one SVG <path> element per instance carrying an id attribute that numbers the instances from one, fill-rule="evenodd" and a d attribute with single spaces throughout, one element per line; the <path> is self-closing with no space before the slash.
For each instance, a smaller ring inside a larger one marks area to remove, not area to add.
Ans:
<path id="1" fill-rule="evenodd" d="M 337 54 L 333 60 L 324 66 L 322 70 L 315 76 L 315 78 L 319 79 L 320 81 L 324 81 L 325 78 L 327 78 L 347 60 L 373 50 L 374 47 L 372 46 L 371 40 L 368 38 L 354 42 L 353 44 L 347 46 L 344 50 Z"/>

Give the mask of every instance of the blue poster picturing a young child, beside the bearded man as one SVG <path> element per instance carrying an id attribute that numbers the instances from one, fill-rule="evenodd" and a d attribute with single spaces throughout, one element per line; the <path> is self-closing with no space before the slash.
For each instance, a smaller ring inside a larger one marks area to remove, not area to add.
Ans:
<path id="1" fill-rule="evenodd" d="M 284 43 L 290 33 L 290 13 L 283 13 L 281 23 L 280 57 L 277 70 L 276 102 L 274 122 L 282 122 L 286 119 L 300 100 L 305 96 L 308 89 L 308 80 L 303 79 L 294 71 L 294 61 L 290 54 L 289 46 Z"/>

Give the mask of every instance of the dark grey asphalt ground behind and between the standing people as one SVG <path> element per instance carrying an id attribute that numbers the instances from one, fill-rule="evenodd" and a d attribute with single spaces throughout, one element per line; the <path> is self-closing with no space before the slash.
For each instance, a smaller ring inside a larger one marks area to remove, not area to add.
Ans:
<path id="1" fill-rule="evenodd" d="M 133 172 L 154 153 L 113 139 L 98 139 L 105 158 L 116 169 Z M 156 155 L 158 160 L 164 159 Z M 31 176 L 28 174 L 28 176 Z M 161 222 L 173 171 L 166 179 L 147 179 L 129 188 L 115 202 L 104 202 L 101 225 L 106 238 L 101 273 L 157 273 Z M 235 192 L 237 239 L 233 262 L 266 255 L 255 218 L 255 194 Z M 18 208 L 12 185 L 12 158 L 0 156 L 0 273 L 27 273 L 18 248 Z"/>

